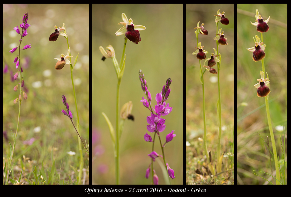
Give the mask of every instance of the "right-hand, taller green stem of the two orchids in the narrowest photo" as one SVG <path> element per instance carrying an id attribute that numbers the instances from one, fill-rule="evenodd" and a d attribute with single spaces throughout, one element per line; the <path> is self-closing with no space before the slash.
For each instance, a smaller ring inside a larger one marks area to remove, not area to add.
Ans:
<path id="1" fill-rule="evenodd" d="M 216 33 L 218 33 L 218 22 L 216 22 Z M 217 47 L 217 55 L 219 55 L 219 43 L 218 40 L 216 40 L 216 47 Z M 219 62 L 217 62 L 217 84 L 218 84 L 218 128 L 219 128 L 219 134 L 218 134 L 218 142 L 217 142 L 217 159 L 220 158 L 220 141 L 221 141 L 221 96 L 220 96 L 220 64 L 221 64 L 221 56 L 219 56 Z M 221 172 L 221 166 L 217 165 L 217 173 Z"/>

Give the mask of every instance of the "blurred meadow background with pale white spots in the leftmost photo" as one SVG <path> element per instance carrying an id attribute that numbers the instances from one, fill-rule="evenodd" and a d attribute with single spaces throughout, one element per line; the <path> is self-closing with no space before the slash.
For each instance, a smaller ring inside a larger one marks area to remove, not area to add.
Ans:
<path id="1" fill-rule="evenodd" d="M 22 38 L 21 49 L 25 45 L 31 44 L 31 48 L 21 50 L 21 65 L 23 66 L 22 77 L 25 81 L 25 92 L 28 99 L 22 100 L 19 120 L 19 130 L 17 135 L 15 159 L 26 155 L 31 160 L 43 161 L 45 167 L 52 165 L 52 152 L 47 147 L 58 148 L 54 152 L 56 168 L 63 169 L 62 172 L 71 172 L 70 164 L 77 166 L 79 163 L 78 135 L 67 116 L 61 112 L 65 109 L 62 103 L 62 95 L 65 95 L 73 114 L 73 121 L 76 125 L 76 109 L 72 82 L 70 75 L 70 65 L 66 64 L 62 70 L 55 70 L 57 60 L 61 54 L 67 54 L 68 45 L 63 36 L 59 36 L 55 42 L 49 41 L 49 35 L 55 31 L 54 26 L 62 26 L 65 23 L 70 44 L 71 63 L 79 53 L 77 64 L 73 70 L 74 84 L 77 94 L 77 102 L 80 116 L 80 135 L 88 143 L 88 4 L 3 4 L 3 66 L 8 65 L 12 76 L 17 69 L 13 63 L 18 55 L 18 49 L 14 53 L 9 50 L 19 45 L 19 34 L 13 30 L 20 24 L 24 13 L 29 13 L 28 23 L 31 25 L 27 29 L 28 35 Z M 27 63 L 27 64 L 25 64 Z M 8 72 L 8 73 L 9 73 Z M 7 131 L 8 140 L 13 143 L 10 132 L 16 132 L 19 102 L 13 104 L 13 100 L 18 97 L 13 87 L 19 83 L 19 78 L 11 81 L 10 75 L 3 74 L 3 131 Z M 22 95 L 22 94 L 21 94 Z M 23 96 L 22 96 L 23 99 Z M 90 125 L 91 126 L 91 125 Z M 38 128 L 38 129 L 35 129 Z M 39 133 L 36 133 L 36 130 Z M 33 145 L 23 145 L 22 141 L 36 139 Z M 8 146 L 7 146 L 8 145 Z M 73 163 L 69 162 L 70 157 L 67 151 L 76 151 L 77 156 L 72 157 Z M 3 155 L 9 153 L 9 143 L 3 140 Z M 63 163 L 61 166 L 61 159 Z M 86 158 L 85 158 L 86 159 Z M 88 164 L 85 164 L 85 168 Z M 67 171 L 68 170 L 68 171 Z"/>

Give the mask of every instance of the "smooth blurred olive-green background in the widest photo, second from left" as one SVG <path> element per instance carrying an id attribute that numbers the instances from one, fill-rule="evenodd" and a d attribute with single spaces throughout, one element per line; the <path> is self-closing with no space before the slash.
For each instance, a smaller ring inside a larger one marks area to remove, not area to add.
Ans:
<path id="1" fill-rule="evenodd" d="M 171 93 L 166 101 L 173 107 L 172 112 L 163 117 L 166 129 L 161 133 L 164 142 L 172 130 L 177 136 L 164 148 L 166 162 L 175 171 L 172 184 L 183 183 L 183 6 L 182 4 L 93 4 L 92 5 L 92 128 L 100 135 L 99 142 L 93 144 L 93 154 L 98 147 L 104 154 L 98 155 L 92 163 L 92 183 L 114 184 L 115 163 L 113 146 L 109 129 L 101 112 L 106 113 L 115 128 L 116 110 L 116 72 L 111 59 L 101 60 L 99 46 L 112 45 L 119 63 L 124 35 L 116 36 L 115 32 L 122 27 L 121 14 L 132 18 L 133 23 L 143 25 L 140 31 L 141 42 L 134 44 L 127 41 L 125 54 L 125 72 L 120 86 L 120 107 L 132 101 L 134 122 L 125 121 L 120 139 L 121 184 L 150 184 L 144 178 L 150 164 L 148 154 L 152 144 L 145 142 L 146 117 L 150 111 L 140 102 L 145 94 L 139 81 L 139 69 L 145 75 L 148 89 L 152 95 L 152 106 L 155 95 L 162 91 L 166 79 L 171 77 Z M 96 101 L 96 102 L 95 102 Z M 149 132 L 148 132 L 149 133 Z M 93 135 L 93 132 L 92 132 Z M 153 134 L 151 134 L 153 136 Z M 95 148 L 95 149 L 94 149 Z M 159 143 L 155 150 L 161 154 Z M 161 159 L 161 158 L 158 158 Z M 106 170 L 100 170 L 105 166 Z M 154 169 L 159 177 L 159 184 L 164 184 L 162 171 L 157 162 Z M 101 173 L 102 171 L 102 173 Z"/>

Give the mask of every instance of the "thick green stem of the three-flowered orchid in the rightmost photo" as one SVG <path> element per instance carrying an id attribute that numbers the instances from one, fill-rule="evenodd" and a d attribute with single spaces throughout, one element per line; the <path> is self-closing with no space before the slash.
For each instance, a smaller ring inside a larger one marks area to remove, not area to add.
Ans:
<path id="1" fill-rule="evenodd" d="M 261 38 L 262 38 L 262 42 L 263 42 L 263 33 L 261 33 Z M 265 61 L 264 61 L 264 59 L 262 59 L 262 70 L 265 74 Z M 276 143 L 275 143 L 274 132 L 273 132 L 271 116 L 270 116 L 270 110 L 269 110 L 269 96 L 265 97 L 265 104 L 266 104 L 267 119 L 268 119 L 268 125 L 269 125 L 269 131 L 270 131 L 273 154 L 274 154 L 274 161 L 275 161 L 276 184 L 278 185 L 278 184 L 280 184 L 280 182 L 278 181 L 278 180 L 280 180 L 280 171 L 279 171 L 279 162 L 278 162 L 278 158 L 277 158 Z"/>

